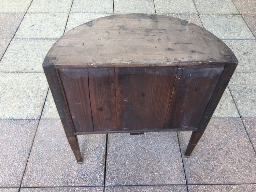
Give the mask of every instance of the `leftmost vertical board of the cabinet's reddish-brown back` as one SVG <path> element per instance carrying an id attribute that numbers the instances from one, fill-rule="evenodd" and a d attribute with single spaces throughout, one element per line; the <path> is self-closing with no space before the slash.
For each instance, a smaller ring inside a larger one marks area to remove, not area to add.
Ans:
<path id="1" fill-rule="evenodd" d="M 59 69 L 76 132 L 94 131 L 91 117 L 88 69 Z"/>

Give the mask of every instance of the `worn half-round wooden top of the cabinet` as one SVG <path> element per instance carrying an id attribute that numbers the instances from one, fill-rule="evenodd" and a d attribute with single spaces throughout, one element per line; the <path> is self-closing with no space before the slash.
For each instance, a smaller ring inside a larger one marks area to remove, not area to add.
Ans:
<path id="1" fill-rule="evenodd" d="M 74 67 L 183 66 L 237 63 L 209 31 L 174 17 L 126 14 L 101 17 L 64 34 L 44 65 Z"/>

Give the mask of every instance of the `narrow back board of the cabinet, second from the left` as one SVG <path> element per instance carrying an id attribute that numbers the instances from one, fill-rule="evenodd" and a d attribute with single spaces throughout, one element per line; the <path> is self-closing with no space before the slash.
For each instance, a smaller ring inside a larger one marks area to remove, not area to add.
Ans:
<path id="1" fill-rule="evenodd" d="M 88 70 L 94 131 L 115 131 L 115 69 L 89 68 Z"/>

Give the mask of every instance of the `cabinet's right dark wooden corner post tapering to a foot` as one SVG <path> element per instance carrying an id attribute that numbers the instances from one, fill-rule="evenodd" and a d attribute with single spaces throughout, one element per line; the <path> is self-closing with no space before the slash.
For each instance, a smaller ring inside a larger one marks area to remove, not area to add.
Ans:
<path id="1" fill-rule="evenodd" d="M 212 94 L 211 100 L 209 101 L 207 108 L 204 111 L 203 117 L 200 121 L 197 131 L 193 131 L 185 152 L 185 156 L 189 157 L 192 151 L 195 149 L 198 141 L 202 137 L 221 97 L 230 81 L 235 69 L 237 67 L 237 63 L 227 63 L 223 70 L 221 77 L 219 78 L 218 84 Z"/>

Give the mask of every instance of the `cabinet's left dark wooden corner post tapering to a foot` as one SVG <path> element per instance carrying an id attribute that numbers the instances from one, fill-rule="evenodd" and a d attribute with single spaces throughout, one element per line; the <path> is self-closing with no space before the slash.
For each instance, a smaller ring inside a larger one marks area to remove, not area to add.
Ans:
<path id="1" fill-rule="evenodd" d="M 63 95 L 63 90 L 61 88 L 61 84 L 59 82 L 57 71 L 55 70 L 53 65 L 47 65 L 48 61 L 46 61 L 43 69 L 51 89 L 53 99 L 55 105 L 57 107 L 65 134 L 67 136 L 70 147 L 75 155 L 76 161 L 78 163 L 82 163 L 81 152 L 79 148 L 79 143 L 77 140 L 77 136 L 74 134 L 73 122 L 70 117 L 69 109 L 66 103 L 65 96 Z"/>

